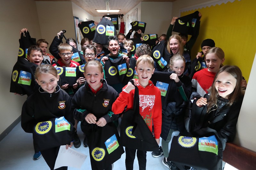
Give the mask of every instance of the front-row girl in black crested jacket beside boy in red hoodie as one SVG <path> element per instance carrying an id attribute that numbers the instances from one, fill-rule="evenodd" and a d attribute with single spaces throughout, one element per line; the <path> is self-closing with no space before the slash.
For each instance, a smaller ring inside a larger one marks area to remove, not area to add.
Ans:
<path id="1" fill-rule="evenodd" d="M 81 121 L 81 130 L 88 139 L 92 169 L 95 169 L 97 164 L 97 161 L 92 158 L 93 148 L 89 142 L 93 129 L 104 128 L 106 124 L 113 126 L 112 122 L 118 119 L 118 116 L 112 112 L 112 104 L 118 97 L 118 93 L 113 87 L 107 85 L 103 75 L 103 67 L 99 61 L 92 60 L 86 63 L 84 66 L 86 82 L 72 99 L 74 117 Z M 104 169 L 112 169 L 112 163 L 106 164 Z"/>

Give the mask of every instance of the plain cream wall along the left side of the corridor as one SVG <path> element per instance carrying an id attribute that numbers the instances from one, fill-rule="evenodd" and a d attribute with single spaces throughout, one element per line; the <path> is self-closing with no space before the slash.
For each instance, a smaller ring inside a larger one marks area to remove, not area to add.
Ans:
<path id="1" fill-rule="evenodd" d="M 1 68 L 0 68 L 0 134 L 7 129 L 21 114 L 21 107 L 27 98 L 10 93 L 10 82 L 13 65 L 19 51 L 20 30 L 28 28 L 33 38 L 41 38 L 36 2 L 34 0 L 1 0 Z"/>

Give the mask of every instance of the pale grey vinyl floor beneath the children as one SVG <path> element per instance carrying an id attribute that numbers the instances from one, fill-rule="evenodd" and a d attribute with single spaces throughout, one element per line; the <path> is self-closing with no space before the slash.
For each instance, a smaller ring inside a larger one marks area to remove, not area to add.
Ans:
<path id="1" fill-rule="evenodd" d="M 79 148 L 73 149 L 84 153 L 88 157 L 84 161 L 81 169 L 91 170 L 89 149 L 83 146 L 84 134 L 80 129 L 80 124 L 78 124 L 78 136 L 82 141 L 82 145 Z M 0 142 L 0 169 L 2 170 L 47 170 L 50 169 L 44 158 L 41 157 L 38 160 L 33 160 L 34 148 L 33 148 L 33 138 L 32 134 L 26 133 L 18 123 L 12 131 Z M 151 152 L 147 152 L 147 170 L 164 170 L 168 169 L 162 164 L 162 155 L 159 158 L 154 158 Z M 69 170 L 77 170 L 74 167 L 68 167 Z M 124 170 L 125 169 L 125 153 L 122 155 L 121 159 L 114 163 L 114 170 Z M 134 161 L 134 170 L 139 170 L 139 165 L 137 158 Z"/>

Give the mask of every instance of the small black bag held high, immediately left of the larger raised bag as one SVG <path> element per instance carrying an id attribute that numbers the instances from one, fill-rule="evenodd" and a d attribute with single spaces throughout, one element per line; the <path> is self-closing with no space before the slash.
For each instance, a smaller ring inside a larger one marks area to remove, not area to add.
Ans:
<path id="1" fill-rule="evenodd" d="M 80 28 L 84 38 L 88 38 L 89 40 L 93 39 L 96 30 L 94 21 L 81 22 L 81 24 L 79 23 L 77 26 Z"/>

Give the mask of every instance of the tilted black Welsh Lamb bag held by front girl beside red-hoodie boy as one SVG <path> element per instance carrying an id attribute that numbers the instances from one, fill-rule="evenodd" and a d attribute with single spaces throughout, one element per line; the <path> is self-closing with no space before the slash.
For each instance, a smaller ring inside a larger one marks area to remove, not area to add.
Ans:
<path id="1" fill-rule="evenodd" d="M 124 148 L 120 146 L 119 134 L 113 122 L 103 127 L 89 124 L 92 131 L 86 134 L 92 169 L 103 170 L 121 158 Z"/>

